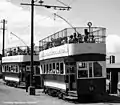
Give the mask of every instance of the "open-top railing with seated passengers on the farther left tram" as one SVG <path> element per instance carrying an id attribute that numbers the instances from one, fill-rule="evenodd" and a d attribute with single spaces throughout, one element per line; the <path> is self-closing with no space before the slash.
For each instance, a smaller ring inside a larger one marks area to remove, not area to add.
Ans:
<path id="1" fill-rule="evenodd" d="M 15 56 L 15 55 L 30 55 L 31 47 L 29 46 L 18 46 L 5 49 L 5 56 Z M 39 47 L 34 46 L 34 55 L 39 54 Z"/>

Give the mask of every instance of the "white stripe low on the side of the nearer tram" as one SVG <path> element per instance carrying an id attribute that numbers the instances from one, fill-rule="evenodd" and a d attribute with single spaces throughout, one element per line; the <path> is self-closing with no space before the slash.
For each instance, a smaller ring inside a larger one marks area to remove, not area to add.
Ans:
<path id="1" fill-rule="evenodd" d="M 66 90 L 65 83 L 60 83 L 60 82 L 55 82 L 55 81 L 44 81 L 44 85 Z"/>

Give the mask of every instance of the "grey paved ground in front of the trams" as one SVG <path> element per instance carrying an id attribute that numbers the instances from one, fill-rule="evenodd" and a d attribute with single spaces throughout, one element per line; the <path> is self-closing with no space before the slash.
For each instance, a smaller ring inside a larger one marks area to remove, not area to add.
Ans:
<path id="1" fill-rule="evenodd" d="M 102 97 L 103 98 L 103 97 Z M 41 90 L 36 90 L 36 95 L 31 96 L 24 89 L 9 87 L 0 80 L 0 105 L 120 105 L 120 97 L 106 96 L 104 101 L 97 103 L 80 103 L 75 100 L 61 100 L 57 97 L 45 95 Z"/>

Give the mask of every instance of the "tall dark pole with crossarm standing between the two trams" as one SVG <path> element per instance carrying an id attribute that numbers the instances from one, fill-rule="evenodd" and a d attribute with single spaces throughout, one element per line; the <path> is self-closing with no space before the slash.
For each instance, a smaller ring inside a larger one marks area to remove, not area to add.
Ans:
<path id="1" fill-rule="evenodd" d="M 30 87 L 29 87 L 29 94 L 30 95 L 35 95 L 35 87 L 33 86 L 33 74 L 34 74 L 34 69 L 33 69 L 33 48 L 34 48 L 34 6 L 42 6 L 46 8 L 54 8 L 57 10 L 69 10 L 71 7 L 69 6 L 54 6 L 54 5 L 43 5 L 44 1 L 39 0 L 39 4 L 35 4 L 38 0 L 31 0 L 31 4 L 28 3 L 21 3 L 21 5 L 30 5 L 31 6 L 31 71 L 30 71 Z"/>

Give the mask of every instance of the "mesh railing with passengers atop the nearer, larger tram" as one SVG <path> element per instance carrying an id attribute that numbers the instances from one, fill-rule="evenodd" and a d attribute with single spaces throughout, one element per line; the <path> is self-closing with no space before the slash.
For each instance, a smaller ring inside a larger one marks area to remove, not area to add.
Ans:
<path id="1" fill-rule="evenodd" d="M 106 29 L 102 27 L 66 28 L 39 41 L 40 51 L 66 43 L 105 43 Z"/>

